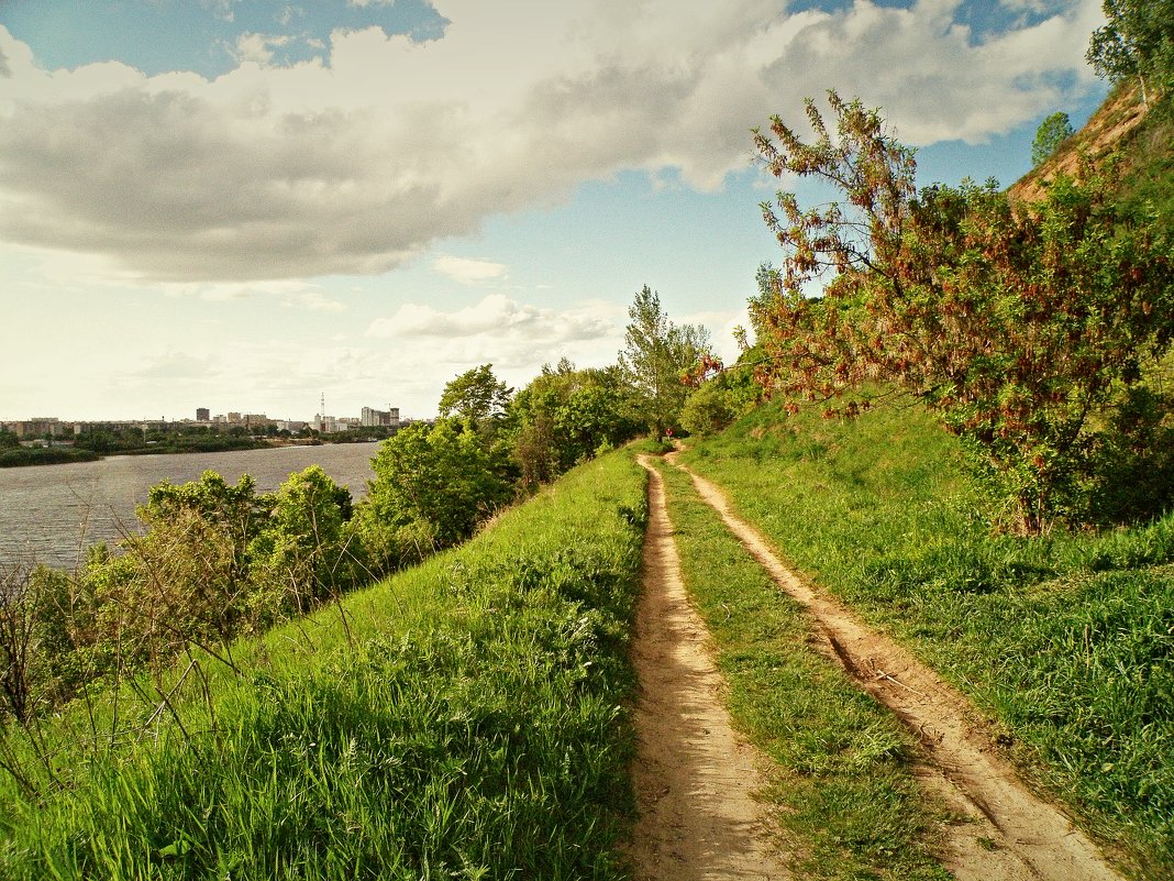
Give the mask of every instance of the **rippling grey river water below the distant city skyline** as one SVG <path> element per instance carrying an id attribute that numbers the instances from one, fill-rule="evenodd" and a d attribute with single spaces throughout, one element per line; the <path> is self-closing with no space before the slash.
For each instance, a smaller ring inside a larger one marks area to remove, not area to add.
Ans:
<path id="1" fill-rule="evenodd" d="M 271 492 L 291 472 L 321 465 L 357 502 L 375 477 L 371 457 L 378 448 L 378 443 L 278 446 L 0 469 L 0 559 L 23 556 L 72 570 L 88 545 L 139 531 L 135 507 L 147 502 L 151 486 L 196 480 L 204 471 L 216 471 L 229 483 L 251 475 L 257 492 Z"/>

